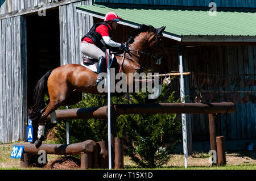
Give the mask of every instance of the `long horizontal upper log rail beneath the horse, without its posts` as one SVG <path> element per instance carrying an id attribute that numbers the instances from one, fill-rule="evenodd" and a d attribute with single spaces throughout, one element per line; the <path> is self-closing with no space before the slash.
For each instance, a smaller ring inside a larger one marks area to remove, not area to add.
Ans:
<path id="1" fill-rule="evenodd" d="M 236 106 L 231 102 L 222 103 L 152 103 L 152 104 L 116 104 L 112 106 L 114 115 L 138 113 L 233 113 Z M 57 120 L 67 119 L 107 119 L 108 106 L 56 110 Z M 47 121 L 51 116 L 47 117 Z"/>

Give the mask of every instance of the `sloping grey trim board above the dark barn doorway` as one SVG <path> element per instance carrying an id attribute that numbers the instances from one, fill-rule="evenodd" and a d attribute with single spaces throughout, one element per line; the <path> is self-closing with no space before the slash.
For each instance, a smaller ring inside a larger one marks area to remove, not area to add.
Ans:
<path id="1" fill-rule="evenodd" d="M 29 7 L 27 9 L 23 9 L 23 10 L 17 10 L 17 11 L 13 11 L 13 12 L 6 13 L 6 14 L 1 14 L 0 20 L 6 19 L 6 18 L 13 18 L 15 16 L 32 14 L 32 13 L 36 13 L 38 11 L 53 9 L 53 8 L 57 8 L 59 6 L 68 5 L 70 3 L 80 2 L 80 1 L 81 0 L 63 0 L 63 1 L 57 1 L 57 2 L 52 2 L 52 3 L 45 3 L 42 6 L 34 6 L 34 7 Z"/>

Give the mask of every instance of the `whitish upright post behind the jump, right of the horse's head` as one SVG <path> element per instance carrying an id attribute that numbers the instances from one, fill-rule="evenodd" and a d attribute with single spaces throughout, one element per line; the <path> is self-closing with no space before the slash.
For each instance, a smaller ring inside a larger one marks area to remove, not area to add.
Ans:
<path id="1" fill-rule="evenodd" d="M 184 96 L 185 96 L 185 90 L 184 90 L 184 79 L 183 79 L 183 61 L 182 61 L 182 54 L 179 47 L 178 50 L 179 53 L 179 71 L 180 71 L 180 99 L 182 103 L 185 103 Z M 187 153 L 188 153 L 188 144 L 187 144 L 187 121 L 186 121 L 186 115 L 184 113 L 181 113 L 181 120 L 182 120 L 182 137 L 183 137 L 183 153 L 184 153 L 184 165 L 185 168 L 187 168 Z"/>

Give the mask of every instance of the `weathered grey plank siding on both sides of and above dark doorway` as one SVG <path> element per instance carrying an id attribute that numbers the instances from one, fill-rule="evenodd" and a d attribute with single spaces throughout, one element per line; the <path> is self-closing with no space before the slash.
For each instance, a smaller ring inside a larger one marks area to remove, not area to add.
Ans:
<path id="1" fill-rule="evenodd" d="M 25 4 L 23 4 L 26 2 Z M 0 13 L 37 6 L 40 1 L 1 1 Z M 47 1 L 54 2 L 54 1 Z M 8 6 L 11 5 L 15 6 Z M 92 1 L 69 3 L 59 7 L 61 65 L 80 64 L 80 39 L 93 25 L 92 17 L 76 12 L 75 5 Z M 8 8 L 7 8 L 8 7 Z M 27 122 L 27 54 L 26 20 L 22 16 L 0 20 L 0 142 L 23 140 Z"/>

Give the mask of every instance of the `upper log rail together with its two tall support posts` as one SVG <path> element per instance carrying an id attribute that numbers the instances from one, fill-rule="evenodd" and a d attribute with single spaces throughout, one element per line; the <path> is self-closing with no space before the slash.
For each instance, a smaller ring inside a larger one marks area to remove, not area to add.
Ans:
<path id="1" fill-rule="evenodd" d="M 152 104 L 116 104 L 111 106 L 112 124 L 118 115 L 139 114 L 139 113 L 196 113 L 208 114 L 209 116 L 209 133 L 210 133 L 210 149 L 224 150 L 222 154 L 222 162 L 218 165 L 225 164 L 225 148 L 224 144 L 216 144 L 216 121 L 217 114 L 233 113 L 236 111 L 236 105 L 232 102 L 221 103 L 152 103 Z M 108 118 L 108 106 L 92 107 L 92 108 L 76 108 L 69 110 L 56 110 L 57 120 L 67 119 L 104 119 Z M 47 121 L 51 117 L 47 117 Z M 112 149 L 114 150 L 115 131 L 112 131 Z M 219 139 L 218 139 L 219 140 Z M 224 138 L 222 138 L 224 140 Z M 220 142 L 220 141 L 219 141 Z M 222 145 L 222 148 L 219 148 Z M 220 151 L 218 151 L 221 153 Z M 119 154 L 121 155 L 121 154 Z M 220 154 L 218 154 L 218 157 Z M 113 156 L 114 158 L 114 156 Z M 220 159 L 220 158 L 218 158 Z M 119 164 L 122 165 L 122 164 Z M 122 167 L 121 167 L 122 168 Z"/>

